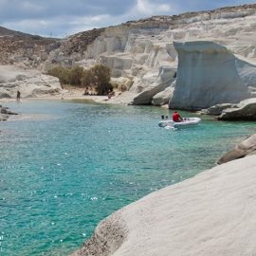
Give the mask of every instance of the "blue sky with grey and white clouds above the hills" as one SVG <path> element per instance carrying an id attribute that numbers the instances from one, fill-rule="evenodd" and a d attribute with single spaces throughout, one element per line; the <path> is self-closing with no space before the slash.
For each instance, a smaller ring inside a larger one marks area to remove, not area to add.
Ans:
<path id="1" fill-rule="evenodd" d="M 243 0 L 0 0 L 0 26 L 65 37 L 154 15 L 256 4 Z"/>

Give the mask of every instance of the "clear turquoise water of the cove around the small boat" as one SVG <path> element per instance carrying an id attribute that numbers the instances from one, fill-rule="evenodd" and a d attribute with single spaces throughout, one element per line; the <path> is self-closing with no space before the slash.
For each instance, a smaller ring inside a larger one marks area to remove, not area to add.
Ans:
<path id="1" fill-rule="evenodd" d="M 255 123 L 157 126 L 167 110 L 9 103 L 0 123 L 0 255 L 68 255 L 114 210 L 214 166 Z M 31 115 L 33 114 L 33 115 Z M 193 116 L 182 113 L 183 116 Z"/>

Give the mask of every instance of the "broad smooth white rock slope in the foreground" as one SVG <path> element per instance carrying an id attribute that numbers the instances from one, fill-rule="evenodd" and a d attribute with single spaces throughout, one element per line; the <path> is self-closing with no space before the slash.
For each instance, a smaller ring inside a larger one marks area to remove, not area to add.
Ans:
<path id="1" fill-rule="evenodd" d="M 255 155 L 216 166 L 113 213 L 72 256 L 254 255 L 255 182 Z"/>

